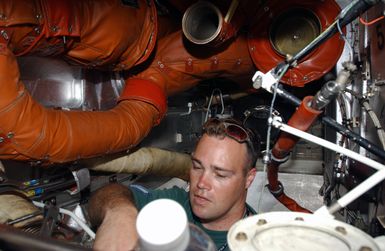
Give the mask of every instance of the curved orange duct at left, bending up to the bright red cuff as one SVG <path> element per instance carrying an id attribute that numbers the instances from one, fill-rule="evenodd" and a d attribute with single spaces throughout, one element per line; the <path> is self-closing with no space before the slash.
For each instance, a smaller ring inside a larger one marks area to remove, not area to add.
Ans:
<path id="1" fill-rule="evenodd" d="M 150 82 L 141 89 L 162 93 Z M 0 44 L 0 93 L 2 159 L 66 162 L 125 150 L 139 143 L 162 113 L 142 97 L 135 100 L 132 93 L 109 111 L 46 109 L 25 90 L 16 58 L 4 44 Z M 165 103 L 159 109 L 165 109 Z"/>

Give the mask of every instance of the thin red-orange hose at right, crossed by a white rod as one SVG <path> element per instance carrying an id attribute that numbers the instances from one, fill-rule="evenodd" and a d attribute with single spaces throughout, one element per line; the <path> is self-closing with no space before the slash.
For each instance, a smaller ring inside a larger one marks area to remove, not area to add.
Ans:
<path id="1" fill-rule="evenodd" d="M 310 107 L 312 96 L 307 96 L 302 100 L 301 105 L 291 116 L 288 125 L 302 131 L 307 131 L 314 123 L 322 111 L 312 109 Z M 289 152 L 298 142 L 298 137 L 295 137 L 286 132 L 281 132 L 277 142 L 272 149 L 272 158 L 267 170 L 267 178 L 269 181 L 270 192 L 288 209 L 297 212 L 310 212 L 307 209 L 299 206 L 293 199 L 288 197 L 284 191 L 283 186 L 278 180 L 278 170 L 282 162 L 284 162 Z M 282 161 L 283 160 L 283 161 Z"/>

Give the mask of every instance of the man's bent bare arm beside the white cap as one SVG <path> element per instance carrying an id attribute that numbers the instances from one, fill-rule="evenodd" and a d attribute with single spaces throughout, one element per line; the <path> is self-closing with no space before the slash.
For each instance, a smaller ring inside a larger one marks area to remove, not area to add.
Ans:
<path id="1" fill-rule="evenodd" d="M 91 224 L 99 227 L 95 250 L 134 250 L 138 210 L 127 187 L 109 184 L 97 190 L 90 199 L 88 214 Z"/>

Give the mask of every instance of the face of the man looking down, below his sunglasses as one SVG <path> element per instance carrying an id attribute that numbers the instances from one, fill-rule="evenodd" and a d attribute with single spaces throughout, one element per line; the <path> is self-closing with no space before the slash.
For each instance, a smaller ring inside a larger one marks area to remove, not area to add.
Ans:
<path id="1" fill-rule="evenodd" d="M 204 134 L 192 159 L 190 201 L 194 214 L 202 222 L 231 221 L 235 215 L 239 217 L 247 188 L 255 177 L 255 169 L 244 174 L 246 144 Z"/>

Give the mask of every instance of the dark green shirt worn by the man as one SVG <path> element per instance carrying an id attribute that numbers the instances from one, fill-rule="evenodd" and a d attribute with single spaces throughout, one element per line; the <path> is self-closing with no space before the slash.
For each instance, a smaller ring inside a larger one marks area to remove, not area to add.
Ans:
<path id="1" fill-rule="evenodd" d="M 201 224 L 199 219 L 194 216 L 190 205 L 189 193 L 184 189 L 173 187 L 170 189 L 146 191 L 144 189 L 139 189 L 136 186 L 132 186 L 131 190 L 134 194 L 135 204 L 138 210 L 142 209 L 147 203 L 156 199 L 172 199 L 178 202 L 185 209 L 188 221 L 205 231 L 214 241 L 218 250 L 229 250 L 227 245 L 227 231 L 214 231 L 206 229 Z M 246 207 L 249 213 L 255 214 L 255 211 L 249 205 L 246 204 Z"/>

